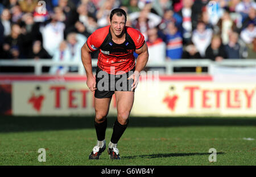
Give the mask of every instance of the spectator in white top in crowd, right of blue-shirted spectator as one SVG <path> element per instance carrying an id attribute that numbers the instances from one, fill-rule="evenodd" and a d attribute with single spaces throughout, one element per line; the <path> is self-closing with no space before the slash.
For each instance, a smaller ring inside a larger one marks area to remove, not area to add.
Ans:
<path id="1" fill-rule="evenodd" d="M 197 23 L 196 29 L 193 31 L 192 42 L 195 44 L 201 57 L 205 57 L 205 50 L 212 39 L 212 29 L 205 29 L 204 22 Z"/>

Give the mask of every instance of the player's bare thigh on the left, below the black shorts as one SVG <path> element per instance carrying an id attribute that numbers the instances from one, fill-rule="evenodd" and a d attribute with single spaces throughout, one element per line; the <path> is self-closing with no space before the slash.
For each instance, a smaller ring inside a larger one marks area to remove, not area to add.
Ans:
<path id="1" fill-rule="evenodd" d="M 94 98 L 96 119 L 101 119 L 108 115 L 111 98 Z"/>

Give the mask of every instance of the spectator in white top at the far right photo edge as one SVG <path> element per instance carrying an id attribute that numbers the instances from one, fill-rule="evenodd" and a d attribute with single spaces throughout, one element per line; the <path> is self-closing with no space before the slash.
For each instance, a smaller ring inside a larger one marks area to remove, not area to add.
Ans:
<path id="1" fill-rule="evenodd" d="M 256 37 L 256 27 L 251 22 L 247 28 L 243 29 L 241 32 L 241 39 L 246 43 L 246 44 L 251 44 L 253 42 L 254 37 Z"/>

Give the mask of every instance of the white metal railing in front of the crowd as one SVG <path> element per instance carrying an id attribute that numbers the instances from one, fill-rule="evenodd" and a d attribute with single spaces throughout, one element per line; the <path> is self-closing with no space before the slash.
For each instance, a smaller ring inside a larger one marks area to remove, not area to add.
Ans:
<path id="1" fill-rule="evenodd" d="M 84 66 L 82 62 L 54 62 L 51 59 L 41 60 L 0 60 L 0 66 L 32 66 L 35 68 L 35 75 L 42 75 L 43 66 L 78 66 L 78 73 L 81 75 L 85 74 Z M 174 67 L 207 67 L 208 73 L 212 73 L 212 67 L 216 65 L 221 66 L 233 66 L 233 67 L 256 67 L 256 59 L 228 59 L 223 61 L 214 62 L 209 59 L 182 59 L 177 61 L 166 61 L 158 64 L 147 64 L 147 68 L 164 68 L 165 74 L 173 74 Z M 92 60 L 92 66 L 97 66 L 97 59 Z M 0 70 L 0 74 L 1 73 Z"/>

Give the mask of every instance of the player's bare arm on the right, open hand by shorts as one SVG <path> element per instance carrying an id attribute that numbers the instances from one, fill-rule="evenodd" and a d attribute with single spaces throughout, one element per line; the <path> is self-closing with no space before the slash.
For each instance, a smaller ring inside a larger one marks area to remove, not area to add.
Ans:
<path id="1" fill-rule="evenodd" d="M 133 78 L 134 82 L 133 85 L 131 85 L 131 90 L 133 91 L 137 85 L 138 85 L 138 81 L 139 81 L 139 74 L 141 73 L 141 71 L 145 68 L 147 61 L 148 61 L 148 50 L 147 50 L 147 44 L 144 43 L 144 45 L 142 46 L 142 48 L 135 50 L 136 53 L 138 53 L 138 58 L 137 58 L 137 62 L 136 62 L 136 66 L 135 66 L 135 71 L 134 74 L 132 74 L 128 79 Z"/>

